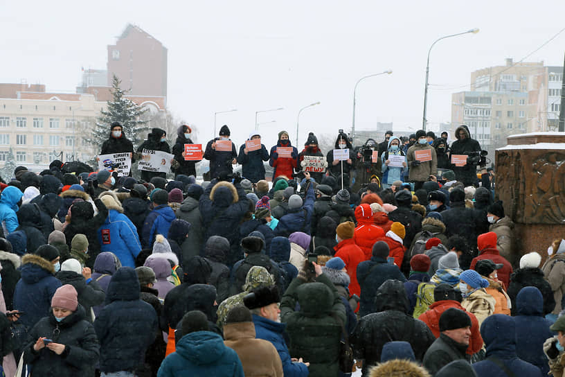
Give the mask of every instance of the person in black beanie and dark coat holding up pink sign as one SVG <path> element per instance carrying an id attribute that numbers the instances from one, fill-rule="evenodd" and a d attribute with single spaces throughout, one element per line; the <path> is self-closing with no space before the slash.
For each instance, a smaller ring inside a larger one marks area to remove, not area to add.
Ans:
<path id="1" fill-rule="evenodd" d="M 224 124 L 219 129 L 219 137 L 208 141 L 208 144 L 206 144 L 204 158 L 210 161 L 210 179 L 231 174 L 233 172 L 232 165 L 237 164 L 237 151 L 229 136 L 230 130 Z"/>

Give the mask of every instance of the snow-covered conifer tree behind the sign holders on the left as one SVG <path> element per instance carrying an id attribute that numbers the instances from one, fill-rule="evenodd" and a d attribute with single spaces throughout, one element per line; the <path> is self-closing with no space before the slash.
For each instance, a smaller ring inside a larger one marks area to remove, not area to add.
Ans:
<path id="1" fill-rule="evenodd" d="M 112 79 L 112 89 L 110 89 L 113 98 L 107 101 L 107 109 L 100 112 L 92 134 L 84 138 L 88 143 L 93 144 L 93 146 L 96 146 L 98 149 L 100 149 L 102 143 L 108 139 L 110 125 L 113 122 L 119 122 L 123 125 L 125 137 L 134 143 L 134 148 L 143 142 L 142 132 L 149 130 L 147 120 L 143 116 L 143 114 L 147 112 L 147 109 L 125 98 L 127 93 L 120 88 L 120 82 L 116 75 L 114 75 Z"/>

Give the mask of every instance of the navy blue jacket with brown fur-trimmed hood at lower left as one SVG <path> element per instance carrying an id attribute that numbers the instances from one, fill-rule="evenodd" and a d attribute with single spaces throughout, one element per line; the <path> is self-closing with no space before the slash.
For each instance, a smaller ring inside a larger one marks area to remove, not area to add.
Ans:
<path id="1" fill-rule="evenodd" d="M 19 322 L 28 327 L 49 315 L 51 299 L 61 282 L 53 274 L 53 264 L 41 256 L 26 254 L 21 258 L 21 279 L 14 291 L 14 309 L 24 312 Z"/>

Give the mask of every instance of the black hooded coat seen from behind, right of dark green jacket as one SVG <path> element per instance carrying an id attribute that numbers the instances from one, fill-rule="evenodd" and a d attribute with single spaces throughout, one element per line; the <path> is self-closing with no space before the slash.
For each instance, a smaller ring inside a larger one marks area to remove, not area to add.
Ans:
<path id="1" fill-rule="evenodd" d="M 362 317 L 350 340 L 355 356 L 365 360 L 363 376 L 368 376 L 368 369 L 380 362 L 382 347 L 386 342 L 409 342 L 416 360 L 422 362 L 424 353 L 436 337 L 424 322 L 409 315 L 410 304 L 404 285 L 392 280 L 383 283 L 377 290 L 375 305 L 377 313 Z"/>

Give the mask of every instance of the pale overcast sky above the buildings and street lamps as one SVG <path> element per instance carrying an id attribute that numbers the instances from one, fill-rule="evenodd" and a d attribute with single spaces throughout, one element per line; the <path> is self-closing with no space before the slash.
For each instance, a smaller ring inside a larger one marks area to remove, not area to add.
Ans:
<path id="1" fill-rule="evenodd" d="M 353 87 L 358 129 L 393 121 L 395 130 L 422 123 L 426 55 L 431 53 L 428 119 L 449 121 L 451 93 L 465 90 L 470 72 L 520 60 L 565 27 L 565 1 L 7 1 L 0 0 L 3 55 L 0 82 L 41 82 L 73 91 L 81 67 L 105 69 L 107 45 L 127 23 L 168 48 L 168 105 L 175 116 L 212 137 L 213 113 L 241 143 L 260 114 L 264 142 L 276 131 L 300 143 L 349 129 Z M 528 58 L 562 65 L 565 33 Z M 438 86 L 436 86 L 438 85 Z"/>

